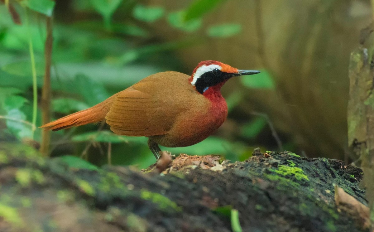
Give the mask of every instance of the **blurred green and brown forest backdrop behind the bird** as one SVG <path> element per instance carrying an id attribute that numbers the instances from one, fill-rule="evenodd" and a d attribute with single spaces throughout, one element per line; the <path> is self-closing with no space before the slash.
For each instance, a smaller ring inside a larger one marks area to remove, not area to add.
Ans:
<path id="1" fill-rule="evenodd" d="M 40 106 L 48 17 L 53 119 L 150 74 L 191 74 L 212 59 L 261 74 L 223 86 L 229 116 L 214 135 L 166 150 L 233 161 L 248 158 L 255 147 L 349 159 L 348 62 L 372 21 L 370 0 L 2 0 L 0 140 L 38 147 L 42 139 L 32 126 L 32 70 Z M 38 107 L 36 126 L 41 115 Z M 117 136 L 105 125 L 51 136 L 50 156 L 66 160 L 107 164 L 109 147 L 115 165 L 144 168 L 155 161 L 146 138 Z"/>

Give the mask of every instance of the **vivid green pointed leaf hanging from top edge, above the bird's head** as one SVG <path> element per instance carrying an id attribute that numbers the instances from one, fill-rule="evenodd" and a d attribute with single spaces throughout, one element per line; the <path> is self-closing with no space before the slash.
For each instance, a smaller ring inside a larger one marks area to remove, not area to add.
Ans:
<path id="1" fill-rule="evenodd" d="M 184 21 L 200 18 L 225 0 L 195 0 L 186 10 Z"/>

